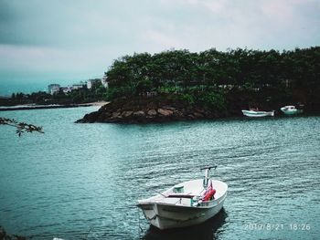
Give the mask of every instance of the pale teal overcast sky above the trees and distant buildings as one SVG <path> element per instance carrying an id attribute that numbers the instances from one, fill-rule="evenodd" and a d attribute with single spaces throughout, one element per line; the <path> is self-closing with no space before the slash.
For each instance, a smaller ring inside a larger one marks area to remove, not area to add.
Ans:
<path id="1" fill-rule="evenodd" d="M 320 0 L 0 0 L 0 95 L 101 78 L 134 52 L 320 45 Z"/>

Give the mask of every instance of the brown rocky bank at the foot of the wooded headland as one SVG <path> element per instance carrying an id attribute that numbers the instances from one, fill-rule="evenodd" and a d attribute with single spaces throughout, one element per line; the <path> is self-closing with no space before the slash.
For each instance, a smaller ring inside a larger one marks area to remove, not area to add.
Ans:
<path id="1" fill-rule="evenodd" d="M 102 106 L 98 111 L 86 114 L 83 119 L 76 122 L 149 123 L 217 119 L 232 115 L 229 110 L 208 110 L 179 99 L 123 98 Z"/>

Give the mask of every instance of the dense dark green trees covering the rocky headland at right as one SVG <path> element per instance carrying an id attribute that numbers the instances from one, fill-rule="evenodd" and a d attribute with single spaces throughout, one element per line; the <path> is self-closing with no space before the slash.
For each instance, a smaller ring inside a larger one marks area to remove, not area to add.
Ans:
<path id="1" fill-rule="evenodd" d="M 105 73 L 107 99 L 175 92 L 190 103 L 224 108 L 224 96 L 233 91 L 277 89 L 283 96 L 320 95 L 320 47 L 292 51 L 215 48 L 200 53 L 170 50 L 154 55 L 133 54 L 116 59 Z"/>

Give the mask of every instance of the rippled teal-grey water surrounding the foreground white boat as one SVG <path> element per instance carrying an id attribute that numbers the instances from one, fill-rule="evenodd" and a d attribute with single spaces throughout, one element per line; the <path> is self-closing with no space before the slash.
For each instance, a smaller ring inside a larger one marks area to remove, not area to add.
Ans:
<path id="1" fill-rule="evenodd" d="M 96 107 L 1 112 L 0 225 L 31 239 L 319 239 L 320 117 L 76 124 Z M 137 199 L 213 177 L 229 184 L 205 224 L 159 231 Z"/>

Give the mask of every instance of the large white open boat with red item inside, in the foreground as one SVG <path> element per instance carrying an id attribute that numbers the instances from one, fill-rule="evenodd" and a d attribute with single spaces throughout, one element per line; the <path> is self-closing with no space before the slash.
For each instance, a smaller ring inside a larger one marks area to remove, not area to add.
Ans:
<path id="1" fill-rule="evenodd" d="M 137 206 L 143 210 L 150 224 L 159 229 L 206 222 L 219 213 L 228 190 L 227 183 L 209 179 L 211 168 L 216 167 L 203 169 L 206 170 L 204 179 L 176 184 L 163 193 L 138 200 Z"/>

